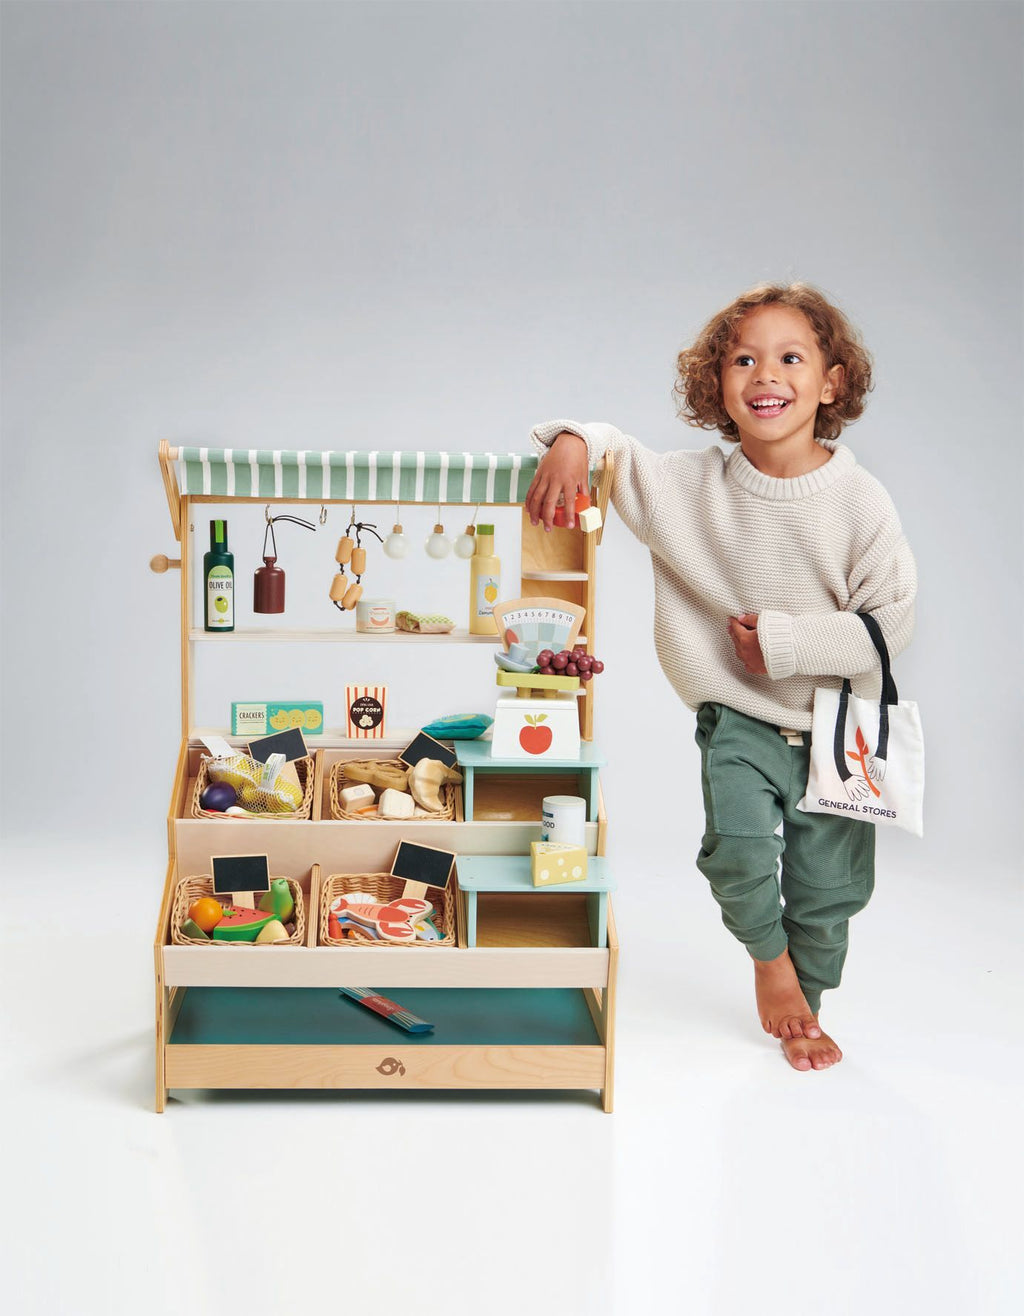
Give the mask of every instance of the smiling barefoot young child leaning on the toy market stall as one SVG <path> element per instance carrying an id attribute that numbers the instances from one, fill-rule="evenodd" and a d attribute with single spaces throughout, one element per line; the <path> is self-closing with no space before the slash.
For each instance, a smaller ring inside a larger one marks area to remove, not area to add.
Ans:
<path id="1" fill-rule="evenodd" d="M 736 447 L 655 453 L 613 425 L 537 425 L 534 525 L 567 522 L 588 466 L 613 457 L 612 503 L 654 567 L 654 642 L 696 712 L 705 833 L 698 867 L 754 961 L 762 1026 L 798 1070 L 842 1058 L 819 1024 L 848 923 L 874 887 L 874 826 L 802 813 L 816 686 L 879 697 L 858 611 L 895 657 L 913 629 L 916 570 L 886 491 L 838 436 L 871 365 L 817 290 L 761 284 L 679 354 L 679 415 Z M 782 836 L 777 834 L 782 824 Z M 779 857 L 782 873 L 778 874 Z M 782 900 L 779 901 L 779 894 Z"/>

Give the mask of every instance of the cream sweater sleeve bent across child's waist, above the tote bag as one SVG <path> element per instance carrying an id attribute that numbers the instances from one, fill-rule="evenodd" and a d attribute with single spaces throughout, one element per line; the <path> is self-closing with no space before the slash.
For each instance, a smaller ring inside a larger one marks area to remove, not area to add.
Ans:
<path id="1" fill-rule="evenodd" d="M 849 574 L 846 611 L 791 615 L 766 609 L 757 634 L 773 680 L 804 676 L 857 676 L 878 671 L 878 654 L 867 628 L 857 616 L 870 612 L 895 658 L 913 633 L 917 567 L 896 511 L 884 495 L 877 526 Z"/>

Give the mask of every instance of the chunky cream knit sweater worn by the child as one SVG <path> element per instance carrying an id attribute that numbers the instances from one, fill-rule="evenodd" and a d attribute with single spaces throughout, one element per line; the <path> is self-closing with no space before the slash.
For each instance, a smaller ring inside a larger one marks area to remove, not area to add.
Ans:
<path id="1" fill-rule="evenodd" d="M 737 443 L 727 455 L 654 453 L 613 425 L 537 425 L 544 453 L 562 430 L 586 440 L 591 466 L 615 462 L 612 503 L 650 550 L 654 646 L 679 697 L 705 700 L 796 730 L 811 729 L 816 686 L 878 699 L 879 662 L 858 609 L 890 657 L 909 642 L 917 572 L 892 500 L 844 443 L 795 479 L 763 475 Z M 733 649 L 730 616 L 758 613 L 767 676 Z M 854 679 L 856 678 L 856 679 Z"/>

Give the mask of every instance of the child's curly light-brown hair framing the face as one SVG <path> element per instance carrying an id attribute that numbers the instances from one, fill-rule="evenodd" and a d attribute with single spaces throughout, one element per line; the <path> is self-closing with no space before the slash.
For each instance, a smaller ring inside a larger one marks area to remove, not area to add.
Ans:
<path id="1" fill-rule="evenodd" d="M 842 428 L 863 412 L 871 390 L 871 358 L 846 316 L 809 283 L 759 283 L 712 316 L 692 347 L 686 347 L 677 359 L 679 376 L 673 388 L 679 401 L 677 415 L 687 425 L 717 429 L 724 438 L 738 442 L 736 421 L 721 400 L 721 368 L 744 316 L 770 305 L 802 311 L 815 332 L 825 370 L 842 366 L 834 401 L 821 403 L 815 416 L 815 438 L 838 438 Z"/>

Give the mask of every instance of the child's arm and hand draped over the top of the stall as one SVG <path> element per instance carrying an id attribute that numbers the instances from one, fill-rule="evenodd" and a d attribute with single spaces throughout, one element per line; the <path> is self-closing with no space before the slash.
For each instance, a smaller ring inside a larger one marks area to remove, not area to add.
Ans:
<path id="1" fill-rule="evenodd" d="M 665 487 L 665 463 L 671 453 L 654 453 L 615 425 L 553 420 L 530 430 L 542 461 L 526 494 L 526 511 L 536 525 L 550 530 L 559 494 L 565 496 L 566 522 L 573 525 L 576 488 L 586 488 L 588 471 L 611 453 L 613 457 L 612 505 L 641 544 L 646 544 L 650 519 Z M 580 440 L 583 442 L 580 442 Z M 586 450 L 584 450 L 586 445 Z"/>

